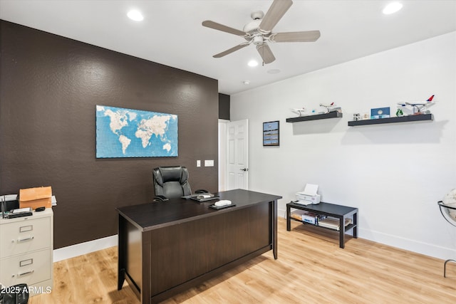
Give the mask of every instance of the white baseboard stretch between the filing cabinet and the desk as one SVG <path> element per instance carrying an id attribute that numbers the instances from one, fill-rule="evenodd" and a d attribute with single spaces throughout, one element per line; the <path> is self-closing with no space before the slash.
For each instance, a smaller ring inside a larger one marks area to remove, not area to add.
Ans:
<path id="1" fill-rule="evenodd" d="M 53 251 L 53 261 L 58 262 L 66 260 L 67 258 L 74 258 L 75 256 L 82 256 L 83 254 L 93 251 L 102 250 L 105 248 L 118 245 L 117 234 L 114 236 L 107 236 L 103 239 L 96 239 L 84 243 L 77 243 L 63 248 L 58 248 Z"/>

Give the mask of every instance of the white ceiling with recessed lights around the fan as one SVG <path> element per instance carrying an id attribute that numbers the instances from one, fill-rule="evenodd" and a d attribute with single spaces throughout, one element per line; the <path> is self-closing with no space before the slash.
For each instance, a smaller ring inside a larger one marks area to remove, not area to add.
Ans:
<path id="1" fill-rule="evenodd" d="M 0 19 L 214 78 L 219 93 L 232 95 L 456 31 L 456 0 L 402 0 L 398 13 L 382 14 L 390 2 L 294 0 L 273 32 L 319 30 L 321 37 L 271 44 L 276 61 L 264 66 L 253 45 L 212 58 L 245 40 L 201 23 L 242 30 L 252 11 L 266 14 L 272 0 L 0 0 Z M 133 8 L 142 11 L 144 21 L 128 19 Z M 249 67 L 251 59 L 260 64 Z"/>

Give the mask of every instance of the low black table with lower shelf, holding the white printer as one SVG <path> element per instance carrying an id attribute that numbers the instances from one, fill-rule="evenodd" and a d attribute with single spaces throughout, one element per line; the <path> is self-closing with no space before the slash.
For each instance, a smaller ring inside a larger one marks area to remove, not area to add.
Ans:
<path id="1" fill-rule="evenodd" d="M 286 204 L 286 230 L 291 230 L 291 208 L 300 209 L 305 211 L 312 211 L 315 214 L 323 214 L 326 216 L 333 216 L 339 219 L 339 247 L 345 247 L 344 236 L 346 231 L 353 229 L 353 237 L 358 238 L 358 208 L 341 206 L 336 204 L 324 203 L 323 201 L 320 204 L 309 204 L 302 205 L 290 202 Z M 345 219 L 349 216 L 353 216 L 353 223 L 345 226 Z M 302 221 L 301 221 L 302 222 Z M 318 227 L 318 226 L 317 226 Z M 325 228 L 325 227 L 321 227 Z"/>

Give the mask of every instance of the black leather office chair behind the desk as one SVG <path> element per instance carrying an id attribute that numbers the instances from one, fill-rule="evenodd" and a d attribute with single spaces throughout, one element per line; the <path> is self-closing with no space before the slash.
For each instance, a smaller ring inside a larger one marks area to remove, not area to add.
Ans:
<path id="1" fill-rule="evenodd" d="M 157 167 L 152 172 L 154 179 L 154 201 L 166 201 L 192 194 L 188 182 L 188 170 L 182 166 Z M 205 193 L 199 189 L 195 193 Z"/>

